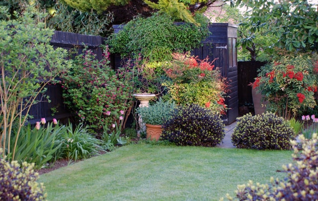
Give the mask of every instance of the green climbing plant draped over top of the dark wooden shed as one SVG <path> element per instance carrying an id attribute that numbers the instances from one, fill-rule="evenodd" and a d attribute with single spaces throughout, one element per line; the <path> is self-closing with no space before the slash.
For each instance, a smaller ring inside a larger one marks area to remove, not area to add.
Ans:
<path id="1" fill-rule="evenodd" d="M 208 36 L 208 19 L 202 15 L 195 17 L 201 26 L 190 23 L 176 25 L 171 17 L 159 13 L 148 18 L 136 17 L 119 33 L 110 36 L 107 41 L 110 52 L 119 53 L 122 57 L 142 56 L 142 64 L 169 61 L 173 52 L 199 47 Z"/>

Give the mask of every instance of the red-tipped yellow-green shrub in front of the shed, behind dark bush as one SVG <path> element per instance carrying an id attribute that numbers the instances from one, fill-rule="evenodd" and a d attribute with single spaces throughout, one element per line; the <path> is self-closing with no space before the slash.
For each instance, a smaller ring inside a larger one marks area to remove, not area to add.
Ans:
<path id="1" fill-rule="evenodd" d="M 208 57 L 199 60 L 190 53 L 173 54 L 172 62 L 164 67 L 171 80 L 164 85 L 177 104 L 198 104 L 223 114 L 227 109 L 228 84 L 226 78 L 221 77 L 219 68 L 213 65 L 215 60 L 208 60 Z"/>

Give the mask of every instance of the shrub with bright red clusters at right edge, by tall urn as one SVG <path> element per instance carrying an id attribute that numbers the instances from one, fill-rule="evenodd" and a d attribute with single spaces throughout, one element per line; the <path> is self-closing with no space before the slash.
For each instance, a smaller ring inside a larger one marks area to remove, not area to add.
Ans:
<path id="1" fill-rule="evenodd" d="M 270 111 L 290 119 L 316 105 L 317 75 L 310 57 L 282 57 L 261 67 L 253 88 L 269 102 Z"/>

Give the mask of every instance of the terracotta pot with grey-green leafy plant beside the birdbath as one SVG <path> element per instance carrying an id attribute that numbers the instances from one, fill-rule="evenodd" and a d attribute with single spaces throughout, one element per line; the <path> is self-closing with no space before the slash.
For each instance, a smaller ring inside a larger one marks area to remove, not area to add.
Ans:
<path id="1" fill-rule="evenodd" d="M 137 109 L 137 113 L 146 125 L 147 139 L 159 139 L 163 130 L 162 124 L 172 117 L 174 108 L 174 103 L 160 98 L 155 104 Z"/>

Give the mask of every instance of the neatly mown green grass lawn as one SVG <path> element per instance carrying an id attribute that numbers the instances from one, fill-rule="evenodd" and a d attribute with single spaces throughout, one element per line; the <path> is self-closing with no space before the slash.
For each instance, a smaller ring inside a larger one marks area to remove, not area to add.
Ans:
<path id="1" fill-rule="evenodd" d="M 284 178 L 292 151 L 131 144 L 40 176 L 50 201 L 217 201 Z"/>

